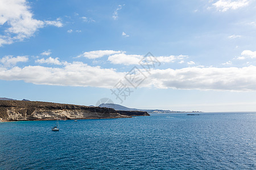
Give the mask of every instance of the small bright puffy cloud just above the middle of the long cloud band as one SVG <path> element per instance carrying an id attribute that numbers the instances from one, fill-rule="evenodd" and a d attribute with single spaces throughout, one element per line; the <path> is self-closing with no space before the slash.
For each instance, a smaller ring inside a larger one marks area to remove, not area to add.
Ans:
<path id="1" fill-rule="evenodd" d="M 139 65 L 142 58 L 141 55 L 127 55 L 123 52 L 109 56 L 108 61 L 113 64 Z"/>

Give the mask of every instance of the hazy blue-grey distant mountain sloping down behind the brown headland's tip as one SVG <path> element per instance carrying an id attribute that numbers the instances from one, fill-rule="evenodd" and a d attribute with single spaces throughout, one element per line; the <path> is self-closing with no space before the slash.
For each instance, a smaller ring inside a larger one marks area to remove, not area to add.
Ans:
<path id="1" fill-rule="evenodd" d="M 177 111 L 169 111 L 169 110 L 159 110 L 159 109 L 135 109 L 135 108 L 127 108 L 123 105 L 113 104 L 113 103 L 102 103 L 99 107 L 112 108 L 116 111 L 144 111 L 148 113 L 176 113 Z"/>

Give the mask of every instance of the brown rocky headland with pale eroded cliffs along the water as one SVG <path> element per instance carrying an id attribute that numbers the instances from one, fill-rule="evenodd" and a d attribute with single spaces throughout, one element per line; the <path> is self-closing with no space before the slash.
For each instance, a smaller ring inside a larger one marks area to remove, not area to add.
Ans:
<path id="1" fill-rule="evenodd" d="M 141 115 L 135 113 L 134 115 L 147 116 L 145 113 L 141 113 Z M 42 101 L 0 100 L 0 120 L 2 121 L 124 118 L 131 116 L 119 113 L 111 108 L 86 107 Z"/>

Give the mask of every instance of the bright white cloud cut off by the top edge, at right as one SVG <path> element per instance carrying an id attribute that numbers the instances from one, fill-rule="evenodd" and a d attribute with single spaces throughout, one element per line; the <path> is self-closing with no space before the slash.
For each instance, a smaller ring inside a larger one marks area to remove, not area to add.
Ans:
<path id="1" fill-rule="evenodd" d="M 248 0 L 238 0 L 238 1 L 231 1 L 231 0 L 219 0 L 213 3 L 213 6 L 217 8 L 217 10 L 225 12 L 230 9 L 236 10 L 241 7 L 245 7 L 249 4 Z"/>

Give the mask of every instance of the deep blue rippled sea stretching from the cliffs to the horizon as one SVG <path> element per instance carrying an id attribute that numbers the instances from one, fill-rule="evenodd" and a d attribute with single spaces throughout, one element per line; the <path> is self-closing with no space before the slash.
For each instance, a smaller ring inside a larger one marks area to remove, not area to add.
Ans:
<path id="1" fill-rule="evenodd" d="M 0 169 L 256 169 L 256 113 L 0 123 Z"/>

